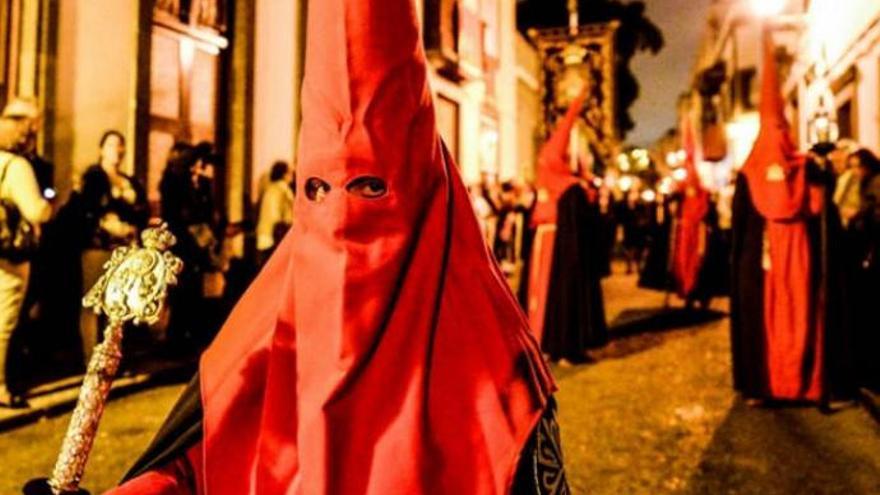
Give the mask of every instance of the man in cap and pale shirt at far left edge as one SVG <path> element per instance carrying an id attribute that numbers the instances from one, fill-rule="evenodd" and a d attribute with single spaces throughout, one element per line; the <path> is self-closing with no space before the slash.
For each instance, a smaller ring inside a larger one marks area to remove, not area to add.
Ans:
<path id="1" fill-rule="evenodd" d="M 0 117 L 0 150 L 14 149 L 21 138 L 20 122 Z M 27 292 L 29 258 L 37 246 L 40 224 L 50 215 L 30 164 L 0 151 L 0 406 L 27 406 L 19 393 L 9 389 L 7 357 Z"/>

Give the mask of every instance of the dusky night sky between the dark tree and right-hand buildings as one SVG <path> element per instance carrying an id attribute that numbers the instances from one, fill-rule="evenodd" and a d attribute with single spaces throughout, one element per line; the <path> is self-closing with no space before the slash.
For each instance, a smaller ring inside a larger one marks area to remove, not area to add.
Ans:
<path id="1" fill-rule="evenodd" d="M 676 124 L 678 95 L 690 85 L 696 51 L 710 0 L 644 0 L 648 17 L 663 30 L 666 46 L 657 55 L 638 54 L 632 68 L 640 96 L 633 106 L 636 128 L 627 141 L 648 145 Z"/>

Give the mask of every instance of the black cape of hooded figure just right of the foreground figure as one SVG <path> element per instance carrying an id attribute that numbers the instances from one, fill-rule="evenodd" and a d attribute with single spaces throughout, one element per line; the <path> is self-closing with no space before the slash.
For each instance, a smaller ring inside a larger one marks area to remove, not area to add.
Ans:
<path id="1" fill-rule="evenodd" d="M 543 349 L 553 360 L 582 362 L 586 350 L 608 342 L 602 226 L 598 206 L 590 204 L 578 184 L 559 198 L 557 211 Z"/>

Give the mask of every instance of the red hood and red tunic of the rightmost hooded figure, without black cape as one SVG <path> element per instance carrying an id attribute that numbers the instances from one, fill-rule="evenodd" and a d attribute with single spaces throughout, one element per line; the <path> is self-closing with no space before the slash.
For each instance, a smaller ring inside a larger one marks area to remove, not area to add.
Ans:
<path id="1" fill-rule="evenodd" d="M 761 130 L 742 173 L 766 220 L 764 332 L 771 398 L 817 401 L 824 391 L 824 308 L 815 290 L 807 221 L 822 208 L 792 142 L 769 33 L 764 40 Z"/>

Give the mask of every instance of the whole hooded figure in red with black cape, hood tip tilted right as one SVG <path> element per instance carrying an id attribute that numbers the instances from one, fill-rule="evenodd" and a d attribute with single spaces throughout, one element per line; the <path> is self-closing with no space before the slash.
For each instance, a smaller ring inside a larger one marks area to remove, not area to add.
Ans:
<path id="1" fill-rule="evenodd" d="M 608 340 L 601 276 L 602 227 L 591 171 L 571 170 L 568 144 L 585 93 L 571 104 L 538 157 L 537 225 L 529 317 L 551 360 L 583 362 Z"/>

